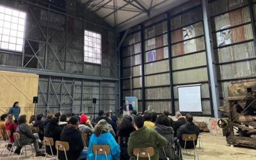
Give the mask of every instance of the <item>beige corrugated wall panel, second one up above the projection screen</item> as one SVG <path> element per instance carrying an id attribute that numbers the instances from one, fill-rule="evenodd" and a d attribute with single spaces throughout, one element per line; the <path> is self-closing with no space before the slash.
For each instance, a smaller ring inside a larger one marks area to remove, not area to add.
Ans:
<path id="1" fill-rule="evenodd" d="M 198 52 L 187 56 L 181 56 L 172 59 L 172 69 L 179 70 L 183 68 L 191 68 L 206 65 L 205 52 Z"/>

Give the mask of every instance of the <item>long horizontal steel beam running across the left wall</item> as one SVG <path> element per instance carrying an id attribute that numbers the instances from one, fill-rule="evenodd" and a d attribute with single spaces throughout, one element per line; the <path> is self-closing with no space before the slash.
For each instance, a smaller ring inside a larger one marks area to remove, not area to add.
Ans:
<path id="1" fill-rule="evenodd" d="M 74 74 L 74 73 L 67 73 L 67 72 L 55 72 L 50 70 L 38 70 L 34 68 L 21 68 L 21 67 L 12 67 L 12 66 L 5 66 L 0 65 L 0 70 L 8 71 L 8 72 L 22 72 L 28 74 L 38 74 L 40 76 L 54 76 L 54 77 L 70 77 L 76 79 L 90 79 L 95 81 L 118 81 L 118 78 L 115 77 L 101 77 L 101 76 L 89 76 L 84 74 Z"/>

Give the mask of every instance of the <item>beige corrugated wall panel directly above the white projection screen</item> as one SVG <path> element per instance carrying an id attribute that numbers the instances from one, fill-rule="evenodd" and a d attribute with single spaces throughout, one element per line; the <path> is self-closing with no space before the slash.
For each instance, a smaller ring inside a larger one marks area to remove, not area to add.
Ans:
<path id="1" fill-rule="evenodd" d="M 208 81 L 206 67 L 173 72 L 173 84 L 196 83 L 200 81 Z"/>

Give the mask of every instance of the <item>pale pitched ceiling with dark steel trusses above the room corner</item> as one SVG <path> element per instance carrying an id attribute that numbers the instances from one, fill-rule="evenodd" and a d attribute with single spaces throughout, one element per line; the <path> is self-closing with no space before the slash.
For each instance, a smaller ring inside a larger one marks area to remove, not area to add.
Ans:
<path id="1" fill-rule="evenodd" d="M 84 13 L 93 12 L 123 31 L 188 0 L 79 0 Z"/>

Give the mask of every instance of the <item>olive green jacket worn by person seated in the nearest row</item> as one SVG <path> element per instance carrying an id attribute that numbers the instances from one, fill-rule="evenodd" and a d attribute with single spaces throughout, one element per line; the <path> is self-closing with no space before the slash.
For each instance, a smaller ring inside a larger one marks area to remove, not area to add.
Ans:
<path id="1" fill-rule="evenodd" d="M 148 129 L 147 127 L 142 127 L 141 129 L 134 131 L 130 134 L 128 141 L 128 154 L 130 157 L 136 157 L 133 155 L 133 148 L 145 148 L 153 147 L 154 156 L 150 157 L 152 160 L 158 160 L 159 152 L 158 148 L 167 145 L 167 140 L 160 134 L 158 134 L 154 129 Z M 140 158 L 148 159 L 148 158 Z"/>

